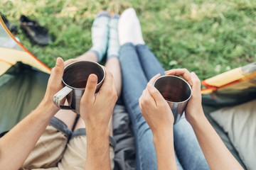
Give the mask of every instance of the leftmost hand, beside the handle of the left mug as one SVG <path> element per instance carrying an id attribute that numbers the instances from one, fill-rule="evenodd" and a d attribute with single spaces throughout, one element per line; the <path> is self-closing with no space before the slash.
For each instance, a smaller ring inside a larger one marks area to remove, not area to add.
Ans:
<path id="1" fill-rule="evenodd" d="M 64 62 L 62 58 L 58 57 L 55 67 L 51 70 L 50 78 L 48 79 L 48 85 L 46 94 L 43 98 L 43 103 L 49 108 L 52 108 L 53 113 L 57 113 L 59 108 L 53 103 L 53 96 L 63 88 L 62 77 L 64 72 Z"/>

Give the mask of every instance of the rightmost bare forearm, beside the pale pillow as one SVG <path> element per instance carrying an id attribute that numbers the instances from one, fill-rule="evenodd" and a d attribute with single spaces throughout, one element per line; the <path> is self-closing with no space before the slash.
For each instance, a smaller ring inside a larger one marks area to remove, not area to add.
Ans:
<path id="1" fill-rule="evenodd" d="M 204 114 L 191 125 L 210 169 L 242 169 Z"/>

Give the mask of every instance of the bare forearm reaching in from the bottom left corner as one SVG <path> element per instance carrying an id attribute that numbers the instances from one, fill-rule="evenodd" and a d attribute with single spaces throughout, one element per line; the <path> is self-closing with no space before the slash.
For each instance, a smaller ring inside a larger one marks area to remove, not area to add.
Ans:
<path id="1" fill-rule="evenodd" d="M 40 105 L 0 139 L 0 169 L 18 169 L 58 110 Z"/>

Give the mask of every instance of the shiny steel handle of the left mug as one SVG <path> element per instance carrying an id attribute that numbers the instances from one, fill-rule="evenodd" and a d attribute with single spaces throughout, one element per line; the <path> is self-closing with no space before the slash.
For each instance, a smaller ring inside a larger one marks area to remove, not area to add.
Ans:
<path id="1" fill-rule="evenodd" d="M 72 90 L 73 89 L 69 88 L 68 86 L 65 86 L 63 87 L 63 89 L 58 91 L 58 93 L 53 96 L 53 103 L 55 104 L 55 106 L 61 109 L 66 109 L 66 110 L 72 109 L 70 106 L 60 105 L 60 101 L 62 101 L 63 98 L 65 98 L 65 96 L 67 96 Z"/>

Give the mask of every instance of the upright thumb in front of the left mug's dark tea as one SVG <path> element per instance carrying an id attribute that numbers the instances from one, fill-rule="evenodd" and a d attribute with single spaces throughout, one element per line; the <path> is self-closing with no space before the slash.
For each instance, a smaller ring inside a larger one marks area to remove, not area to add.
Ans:
<path id="1" fill-rule="evenodd" d="M 90 74 L 87 79 L 87 84 L 85 86 L 85 93 L 82 95 L 82 101 L 94 102 L 95 91 L 97 88 L 97 76 L 95 74 Z"/>

